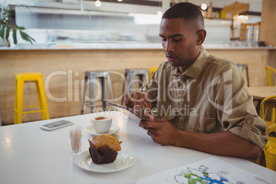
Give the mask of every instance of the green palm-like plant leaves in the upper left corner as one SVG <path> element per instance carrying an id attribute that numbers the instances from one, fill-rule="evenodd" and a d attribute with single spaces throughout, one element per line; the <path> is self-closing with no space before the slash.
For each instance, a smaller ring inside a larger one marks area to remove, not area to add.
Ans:
<path id="1" fill-rule="evenodd" d="M 5 5 L 4 3 L 0 3 L 0 37 L 3 39 L 5 46 L 8 47 L 10 47 L 9 36 L 11 30 L 14 44 L 17 44 L 17 31 L 19 31 L 23 40 L 30 43 L 35 42 L 34 38 L 23 32 L 25 27 L 19 27 L 12 22 L 12 13 L 14 13 L 14 9 L 19 6 L 27 8 L 27 5 Z"/>

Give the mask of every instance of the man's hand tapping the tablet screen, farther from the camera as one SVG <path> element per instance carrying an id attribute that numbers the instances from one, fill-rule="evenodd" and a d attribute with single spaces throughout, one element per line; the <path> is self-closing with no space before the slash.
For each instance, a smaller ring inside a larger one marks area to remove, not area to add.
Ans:
<path id="1" fill-rule="evenodd" d="M 124 96 L 124 102 L 126 106 L 132 108 L 133 111 L 137 111 L 138 108 L 152 108 L 152 99 L 150 95 L 140 91 L 126 94 Z"/>

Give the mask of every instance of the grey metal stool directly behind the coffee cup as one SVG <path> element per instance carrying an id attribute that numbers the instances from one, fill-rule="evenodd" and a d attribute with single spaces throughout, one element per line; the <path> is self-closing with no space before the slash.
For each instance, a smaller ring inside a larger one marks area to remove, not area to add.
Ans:
<path id="1" fill-rule="evenodd" d="M 102 91 L 102 108 L 104 111 L 106 111 L 106 89 L 105 89 L 105 79 L 108 82 L 108 87 L 111 95 L 111 102 L 113 102 L 113 90 L 112 90 L 112 84 L 111 84 L 111 75 L 109 71 L 85 71 L 84 74 L 84 88 L 82 92 L 82 111 L 81 114 L 83 113 L 84 110 L 84 104 L 85 102 L 85 97 L 86 97 L 86 92 L 87 92 L 87 80 L 90 79 L 90 84 L 89 84 L 89 109 L 90 113 L 93 113 L 94 111 L 94 90 L 95 90 L 95 82 L 96 79 L 99 78 L 100 80 L 100 88 Z"/>

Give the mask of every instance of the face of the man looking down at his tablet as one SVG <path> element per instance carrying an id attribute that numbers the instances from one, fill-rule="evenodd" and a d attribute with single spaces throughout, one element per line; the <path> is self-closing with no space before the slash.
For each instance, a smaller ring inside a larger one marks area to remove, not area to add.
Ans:
<path id="1" fill-rule="evenodd" d="M 191 23 L 183 19 L 162 19 L 159 36 L 170 64 L 174 67 L 189 67 L 196 60 L 199 47 L 196 45 L 196 34 Z"/>

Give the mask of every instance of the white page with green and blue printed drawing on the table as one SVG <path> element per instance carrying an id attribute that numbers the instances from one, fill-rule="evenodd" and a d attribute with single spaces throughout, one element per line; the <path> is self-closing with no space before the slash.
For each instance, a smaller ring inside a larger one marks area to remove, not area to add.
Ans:
<path id="1" fill-rule="evenodd" d="M 211 157 L 203 161 L 148 176 L 136 184 L 270 184 L 256 174 L 241 170 L 225 161 Z"/>

